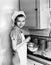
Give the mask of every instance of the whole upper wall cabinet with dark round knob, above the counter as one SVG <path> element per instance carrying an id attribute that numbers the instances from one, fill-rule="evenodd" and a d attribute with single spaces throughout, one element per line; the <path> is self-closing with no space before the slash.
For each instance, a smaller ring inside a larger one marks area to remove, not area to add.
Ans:
<path id="1" fill-rule="evenodd" d="M 49 27 L 49 0 L 20 0 L 20 10 L 25 11 L 25 26 L 34 29 Z"/>

